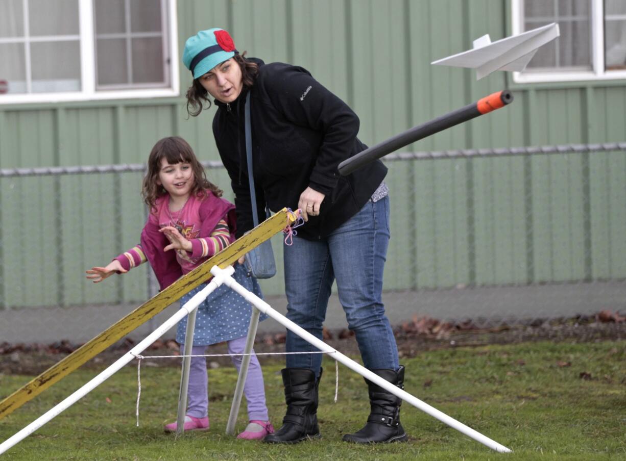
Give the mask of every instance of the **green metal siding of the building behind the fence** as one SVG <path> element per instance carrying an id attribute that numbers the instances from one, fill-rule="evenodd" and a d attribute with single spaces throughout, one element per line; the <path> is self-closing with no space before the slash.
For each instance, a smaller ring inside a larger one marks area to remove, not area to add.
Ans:
<path id="1" fill-rule="evenodd" d="M 513 89 L 511 106 L 405 150 L 625 139 L 625 81 L 519 85 L 505 73 L 476 81 L 468 69 L 429 64 L 485 33 L 510 33 L 508 0 L 178 1 L 180 53 L 188 36 L 218 25 L 248 56 L 312 71 L 359 114 L 367 144 L 503 88 Z M 190 74 L 182 64 L 180 81 L 183 95 Z M 172 134 L 203 160 L 218 160 L 213 113 L 187 119 L 183 97 L 0 106 L 0 168 L 143 163 L 155 141 Z M 386 289 L 623 278 L 624 173 L 625 153 L 390 163 Z M 232 198 L 225 171 L 209 176 Z M 6 304 L 143 299 L 145 268 L 116 278 L 115 292 L 83 278 L 85 268 L 138 240 L 140 175 L 0 186 Z M 44 231 L 49 226 L 61 233 Z M 281 292 L 280 276 L 264 289 Z"/>

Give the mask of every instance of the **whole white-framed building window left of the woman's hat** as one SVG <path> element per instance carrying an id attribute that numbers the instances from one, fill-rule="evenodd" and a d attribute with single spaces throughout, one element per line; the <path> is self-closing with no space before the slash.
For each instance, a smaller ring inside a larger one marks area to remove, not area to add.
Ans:
<path id="1" fill-rule="evenodd" d="M 175 0 L 0 1 L 0 104 L 178 94 Z"/>

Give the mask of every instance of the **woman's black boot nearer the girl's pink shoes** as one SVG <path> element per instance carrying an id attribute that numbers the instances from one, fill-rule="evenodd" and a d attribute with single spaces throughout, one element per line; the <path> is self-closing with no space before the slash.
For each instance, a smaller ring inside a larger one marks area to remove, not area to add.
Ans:
<path id="1" fill-rule="evenodd" d="M 310 368 L 284 368 L 282 382 L 285 385 L 285 402 L 287 413 L 282 418 L 282 427 L 272 434 L 265 435 L 267 443 L 298 443 L 307 438 L 320 438 L 317 426 L 317 390 L 322 377 Z"/>

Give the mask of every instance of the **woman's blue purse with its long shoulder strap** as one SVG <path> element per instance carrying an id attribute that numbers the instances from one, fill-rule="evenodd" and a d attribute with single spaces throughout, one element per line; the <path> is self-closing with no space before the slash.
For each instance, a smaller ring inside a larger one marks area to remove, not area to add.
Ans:
<path id="1" fill-rule="evenodd" d="M 252 200 L 252 220 L 254 226 L 259 225 L 259 213 L 257 213 L 257 195 L 254 190 L 254 178 L 252 176 L 252 134 L 250 133 L 250 91 L 245 97 L 245 154 L 248 160 L 248 180 L 250 182 L 250 199 Z M 269 217 L 269 209 L 265 207 L 265 217 Z M 248 276 L 255 278 L 270 278 L 276 275 L 276 261 L 272 242 L 265 240 L 259 246 L 252 248 L 245 255 L 245 268 Z"/>

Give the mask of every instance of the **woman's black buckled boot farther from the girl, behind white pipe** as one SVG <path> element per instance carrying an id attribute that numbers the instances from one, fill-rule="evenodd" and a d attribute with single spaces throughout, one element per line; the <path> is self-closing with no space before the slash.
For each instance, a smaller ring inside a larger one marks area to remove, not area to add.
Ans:
<path id="1" fill-rule="evenodd" d="M 398 372 L 389 368 L 371 370 L 399 388 L 404 388 L 404 367 Z M 408 436 L 400 423 L 400 405 L 402 399 L 387 392 L 382 387 L 365 380 L 369 391 L 371 411 L 364 428 L 356 433 L 344 435 L 344 442 L 354 443 L 391 443 L 406 442 Z"/>

